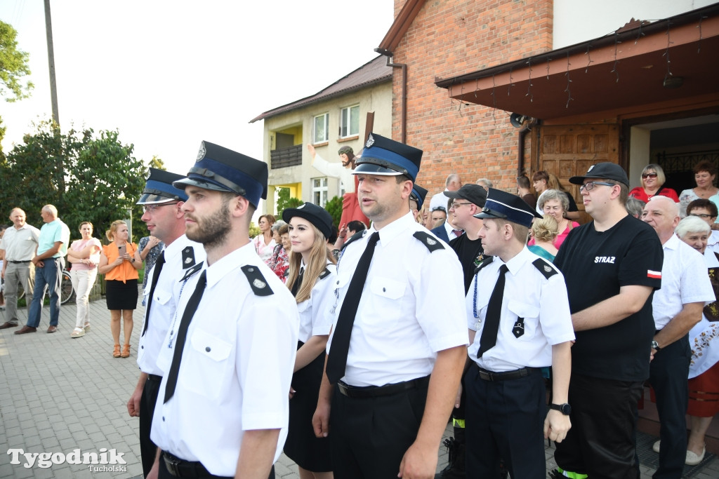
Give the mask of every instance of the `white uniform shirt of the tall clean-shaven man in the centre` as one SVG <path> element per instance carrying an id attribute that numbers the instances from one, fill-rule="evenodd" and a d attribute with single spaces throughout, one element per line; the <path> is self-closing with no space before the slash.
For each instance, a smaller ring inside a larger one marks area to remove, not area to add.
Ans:
<path id="1" fill-rule="evenodd" d="M 375 231 L 372 226 L 342 251 L 335 281 L 335 324 L 352 274 Z M 469 343 L 457 254 L 447 246 L 429 251 L 413 236 L 417 231 L 444 245 L 416 223 L 412 213 L 380 230 L 349 342 L 342 378 L 349 385 L 384 386 L 428 376 L 438 351 Z"/>

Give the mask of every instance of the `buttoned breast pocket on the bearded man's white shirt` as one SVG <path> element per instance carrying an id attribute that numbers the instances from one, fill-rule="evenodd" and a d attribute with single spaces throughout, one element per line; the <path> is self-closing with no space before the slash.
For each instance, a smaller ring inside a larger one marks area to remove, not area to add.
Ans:
<path id="1" fill-rule="evenodd" d="M 232 344 L 203 330 L 195 330 L 190 348 L 191 354 L 183 358 L 180 381 L 186 389 L 216 399 L 232 366 L 229 359 Z"/>

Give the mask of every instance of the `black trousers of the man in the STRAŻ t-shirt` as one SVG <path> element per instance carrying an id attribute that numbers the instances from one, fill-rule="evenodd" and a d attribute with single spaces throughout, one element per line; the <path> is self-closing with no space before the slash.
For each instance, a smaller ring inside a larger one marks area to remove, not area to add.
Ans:
<path id="1" fill-rule="evenodd" d="M 636 406 L 644 381 L 572 373 L 572 429 L 557 443 L 557 465 L 592 479 L 637 479 Z"/>

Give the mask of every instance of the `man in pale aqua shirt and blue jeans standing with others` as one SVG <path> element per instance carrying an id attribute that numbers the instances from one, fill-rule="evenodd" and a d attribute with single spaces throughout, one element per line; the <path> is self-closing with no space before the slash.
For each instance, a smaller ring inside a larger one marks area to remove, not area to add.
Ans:
<path id="1" fill-rule="evenodd" d="M 45 296 L 45 286 L 50 291 L 50 327 L 47 332 L 58 330 L 60 319 L 60 279 L 65 268 L 65 255 L 68 254 L 70 242 L 70 228 L 58 218 L 58 208 L 45 205 L 40 212 L 45 222 L 40 228 L 40 238 L 37 244 L 37 254 L 32 259 L 35 264 L 35 291 L 32 295 L 32 304 L 27 313 L 27 325 L 15 334 L 22 335 L 37 331 L 40 325 L 40 311 L 42 299 Z"/>

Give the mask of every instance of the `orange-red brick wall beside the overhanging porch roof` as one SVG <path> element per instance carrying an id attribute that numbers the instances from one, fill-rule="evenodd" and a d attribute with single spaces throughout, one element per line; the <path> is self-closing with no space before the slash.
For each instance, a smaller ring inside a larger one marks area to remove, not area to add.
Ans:
<path id="1" fill-rule="evenodd" d="M 395 0 L 395 15 L 405 0 Z M 418 183 L 434 194 L 450 172 L 516 186 L 518 129 L 509 113 L 461 105 L 436 78 L 451 78 L 551 50 L 552 0 L 427 0 L 395 48 L 408 65 L 407 143 L 424 150 Z M 393 78 L 393 138 L 401 136 L 401 74 Z M 497 94 L 506 94 L 499 91 Z M 526 136 L 527 152 L 531 134 Z M 526 167 L 531 158 L 526 155 Z"/>

